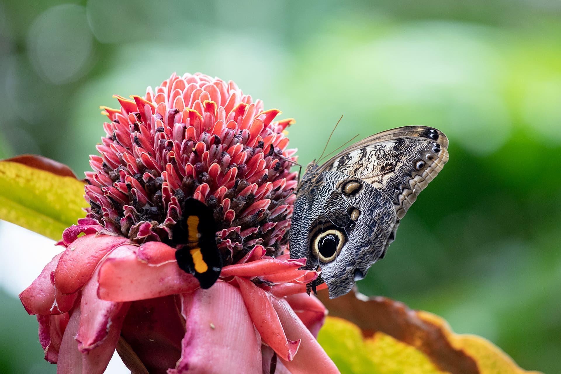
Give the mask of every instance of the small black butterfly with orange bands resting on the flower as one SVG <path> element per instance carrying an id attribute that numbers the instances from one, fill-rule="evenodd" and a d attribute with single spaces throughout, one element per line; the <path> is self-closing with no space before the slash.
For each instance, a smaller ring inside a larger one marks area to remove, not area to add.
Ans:
<path id="1" fill-rule="evenodd" d="M 216 244 L 217 225 L 208 206 L 188 198 L 183 215 L 173 228 L 177 265 L 199 280 L 201 288 L 209 288 L 222 270 L 222 257 Z"/>

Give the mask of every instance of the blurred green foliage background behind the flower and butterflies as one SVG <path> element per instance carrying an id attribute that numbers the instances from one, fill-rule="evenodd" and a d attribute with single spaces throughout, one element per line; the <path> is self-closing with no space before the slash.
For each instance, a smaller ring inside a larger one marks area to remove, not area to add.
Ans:
<path id="1" fill-rule="evenodd" d="M 99 105 L 174 71 L 233 80 L 296 118 L 303 165 L 341 114 L 330 149 L 357 133 L 437 127 L 450 161 L 360 290 L 557 373 L 560 40 L 558 0 L 3 1 L 0 157 L 42 154 L 81 173 L 103 135 Z M 54 372 L 34 318 L 0 298 L 0 370 Z"/>

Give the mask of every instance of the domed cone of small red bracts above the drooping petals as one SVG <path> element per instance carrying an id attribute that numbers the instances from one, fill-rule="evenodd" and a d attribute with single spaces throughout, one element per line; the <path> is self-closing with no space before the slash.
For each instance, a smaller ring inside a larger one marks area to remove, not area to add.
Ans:
<path id="1" fill-rule="evenodd" d="M 273 122 L 279 110 L 205 75 L 173 75 L 132 97 L 116 96 L 119 110 L 102 107 L 112 122 L 101 156 L 90 157 L 88 216 L 135 242 L 173 243 L 192 196 L 214 211 L 225 260 L 255 244 L 282 253 L 297 183 L 282 133 L 292 120 Z"/>

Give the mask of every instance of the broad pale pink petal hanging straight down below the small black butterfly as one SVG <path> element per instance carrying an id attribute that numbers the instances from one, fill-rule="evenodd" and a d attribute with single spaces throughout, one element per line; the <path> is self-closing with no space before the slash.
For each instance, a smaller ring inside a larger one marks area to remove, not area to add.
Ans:
<path id="1" fill-rule="evenodd" d="M 182 295 L 182 303 L 187 332 L 169 374 L 261 374 L 261 339 L 238 288 L 218 281 Z"/>

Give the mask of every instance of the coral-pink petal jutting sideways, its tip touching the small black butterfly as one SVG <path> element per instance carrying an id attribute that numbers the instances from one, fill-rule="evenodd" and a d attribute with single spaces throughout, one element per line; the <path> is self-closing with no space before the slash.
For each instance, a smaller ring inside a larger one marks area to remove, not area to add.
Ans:
<path id="1" fill-rule="evenodd" d="M 99 298 L 135 301 L 191 292 L 199 281 L 177 266 L 177 261 L 151 266 L 137 257 L 137 248 L 123 244 L 109 255 L 99 269 Z"/>

